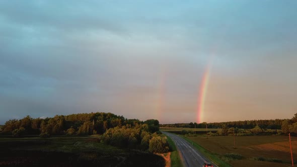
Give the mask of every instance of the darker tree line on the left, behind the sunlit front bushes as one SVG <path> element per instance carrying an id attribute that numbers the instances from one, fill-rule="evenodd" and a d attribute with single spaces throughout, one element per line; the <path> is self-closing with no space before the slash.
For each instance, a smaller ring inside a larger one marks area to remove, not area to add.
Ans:
<path id="1" fill-rule="evenodd" d="M 155 121 L 155 122 L 154 122 Z M 147 120 L 148 129 L 151 132 L 159 131 L 159 121 Z M 152 123 L 153 122 L 153 123 Z M 158 123 L 156 123 L 158 122 Z M 155 123 L 155 124 L 154 124 Z M 91 135 L 103 134 L 114 127 L 134 127 L 143 124 L 138 119 L 126 119 L 112 113 L 83 113 L 71 115 L 56 115 L 53 118 L 32 118 L 26 116 L 23 119 L 6 121 L 2 134 L 7 135 Z"/>

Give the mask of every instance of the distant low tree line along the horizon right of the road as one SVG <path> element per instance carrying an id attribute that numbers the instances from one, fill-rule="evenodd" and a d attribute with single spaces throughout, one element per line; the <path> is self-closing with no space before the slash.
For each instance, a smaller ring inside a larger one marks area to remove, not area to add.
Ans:
<path id="1" fill-rule="evenodd" d="M 209 131 L 207 134 L 211 136 L 247 136 L 247 135 L 271 135 L 292 133 L 297 135 L 297 113 L 291 119 L 275 119 L 275 120 L 254 120 L 254 121 L 234 121 L 221 123 L 189 123 L 189 124 L 163 124 L 161 127 L 181 127 L 181 128 L 219 128 L 216 132 Z M 248 128 L 247 128 L 248 127 Z M 192 129 L 183 129 L 181 134 L 192 135 Z"/>

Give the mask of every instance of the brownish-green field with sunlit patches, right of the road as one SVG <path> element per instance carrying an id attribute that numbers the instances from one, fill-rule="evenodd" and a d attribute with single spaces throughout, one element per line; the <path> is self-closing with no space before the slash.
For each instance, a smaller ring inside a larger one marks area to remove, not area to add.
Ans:
<path id="1" fill-rule="evenodd" d="M 290 166 L 288 136 L 188 137 L 233 166 Z M 294 159 L 297 158 L 297 137 L 291 137 Z M 296 163 L 296 160 L 295 160 Z"/>

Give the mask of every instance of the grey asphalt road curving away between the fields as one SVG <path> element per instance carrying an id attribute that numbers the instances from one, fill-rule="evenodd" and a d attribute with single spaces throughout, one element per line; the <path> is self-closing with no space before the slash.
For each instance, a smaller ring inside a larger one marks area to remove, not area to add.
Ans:
<path id="1" fill-rule="evenodd" d="M 185 139 L 179 137 L 176 134 L 169 132 L 162 132 L 169 136 L 174 142 L 175 145 L 182 156 L 181 159 L 184 162 L 184 166 L 192 167 L 192 166 L 203 166 L 204 161 L 209 161 L 206 157 L 204 157 L 194 146 L 186 141 Z M 216 166 L 212 163 L 213 166 Z"/>

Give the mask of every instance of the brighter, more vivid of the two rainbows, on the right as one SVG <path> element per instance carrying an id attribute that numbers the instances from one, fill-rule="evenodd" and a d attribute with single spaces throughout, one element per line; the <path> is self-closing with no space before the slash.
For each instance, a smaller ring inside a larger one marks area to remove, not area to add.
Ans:
<path id="1" fill-rule="evenodd" d="M 206 99 L 207 87 L 209 82 L 211 61 L 207 64 L 205 71 L 203 73 L 202 81 L 198 93 L 198 106 L 197 106 L 197 123 L 202 123 L 202 118 L 204 114 L 204 104 Z"/>

